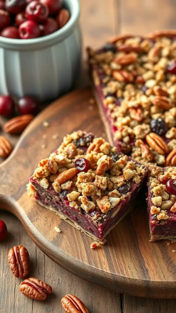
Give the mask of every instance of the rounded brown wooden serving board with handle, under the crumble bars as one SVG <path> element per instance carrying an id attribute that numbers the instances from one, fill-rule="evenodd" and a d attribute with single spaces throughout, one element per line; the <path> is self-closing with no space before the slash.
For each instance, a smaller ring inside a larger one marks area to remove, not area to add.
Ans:
<path id="1" fill-rule="evenodd" d="M 111 231 L 104 246 L 92 250 L 91 238 L 27 196 L 28 177 L 38 162 L 60 145 L 65 134 L 82 129 L 106 138 L 90 98 L 89 89 L 74 91 L 49 105 L 30 123 L 0 166 L 1 208 L 15 214 L 39 248 L 75 275 L 130 295 L 174 298 L 176 253 L 172 250 L 176 244 L 148 241 L 145 201 Z M 43 126 L 44 120 L 49 127 Z M 52 139 L 55 135 L 58 139 Z M 55 226 L 61 233 L 54 231 Z"/>

